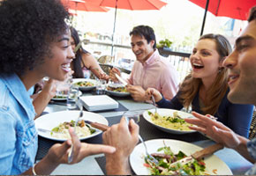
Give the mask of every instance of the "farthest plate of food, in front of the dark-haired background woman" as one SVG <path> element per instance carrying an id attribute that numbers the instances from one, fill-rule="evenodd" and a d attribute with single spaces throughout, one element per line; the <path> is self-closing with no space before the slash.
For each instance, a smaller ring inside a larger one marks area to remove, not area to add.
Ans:
<path id="1" fill-rule="evenodd" d="M 86 78 L 74 78 L 72 84 L 76 87 L 79 87 L 79 90 L 81 91 L 90 91 L 96 87 L 96 80 Z"/>

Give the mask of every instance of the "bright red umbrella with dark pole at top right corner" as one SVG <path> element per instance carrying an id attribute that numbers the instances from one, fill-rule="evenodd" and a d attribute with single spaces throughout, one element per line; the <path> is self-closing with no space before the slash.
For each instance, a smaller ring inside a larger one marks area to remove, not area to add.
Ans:
<path id="1" fill-rule="evenodd" d="M 249 10 L 256 5 L 256 0 L 189 0 L 193 4 L 204 8 L 205 16 L 201 28 L 200 35 L 203 34 L 207 11 L 210 11 L 215 16 L 236 18 L 246 20 Z"/>

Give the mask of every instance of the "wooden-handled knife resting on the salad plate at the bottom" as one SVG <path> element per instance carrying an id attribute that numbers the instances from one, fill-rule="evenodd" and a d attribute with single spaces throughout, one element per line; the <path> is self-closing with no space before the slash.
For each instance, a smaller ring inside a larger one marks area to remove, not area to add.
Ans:
<path id="1" fill-rule="evenodd" d="M 221 143 L 215 143 L 214 145 L 210 145 L 210 146 L 208 146 L 207 148 L 205 148 L 203 150 L 199 150 L 199 151 L 194 152 L 189 157 L 185 157 L 185 158 L 182 158 L 180 160 L 177 160 L 176 162 L 170 164 L 169 167 L 174 167 L 177 164 L 185 165 L 185 164 L 191 162 L 193 159 L 200 160 L 201 158 L 204 158 L 204 157 L 207 157 L 208 155 L 213 154 L 217 150 L 222 150 L 223 147 L 224 146 Z"/>

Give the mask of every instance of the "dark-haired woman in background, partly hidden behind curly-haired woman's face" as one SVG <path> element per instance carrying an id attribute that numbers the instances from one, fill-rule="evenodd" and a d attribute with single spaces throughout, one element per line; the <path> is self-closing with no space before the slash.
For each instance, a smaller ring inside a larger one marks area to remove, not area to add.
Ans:
<path id="1" fill-rule="evenodd" d="M 91 72 L 100 79 L 109 80 L 109 76 L 104 73 L 99 63 L 95 60 L 94 56 L 91 55 L 86 49 L 80 47 L 77 51 L 75 48 L 81 42 L 79 39 L 79 33 L 77 30 L 71 26 L 72 32 L 72 50 L 75 52 L 76 57 L 71 63 L 71 68 L 74 71 L 73 77 L 76 78 L 89 78 L 91 76 Z"/>

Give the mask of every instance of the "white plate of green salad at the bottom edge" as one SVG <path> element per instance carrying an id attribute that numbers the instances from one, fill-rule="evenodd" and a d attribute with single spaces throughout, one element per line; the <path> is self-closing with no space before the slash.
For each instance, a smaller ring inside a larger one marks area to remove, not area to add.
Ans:
<path id="1" fill-rule="evenodd" d="M 159 161 L 159 165 L 148 162 L 145 148 L 139 143 L 130 155 L 130 165 L 137 175 L 232 175 L 222 159 L 210 155 L 201 160 L 192 159 L 189 163 L 171 165 L 175 161 L 202 150 L 192 143 L 172 139 L 154 139 L 145 142 L 148 152 Z M 182 172 L 182 173 L 181 173 Z"/>

